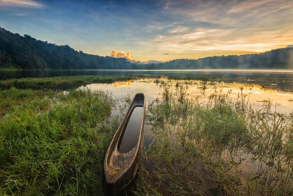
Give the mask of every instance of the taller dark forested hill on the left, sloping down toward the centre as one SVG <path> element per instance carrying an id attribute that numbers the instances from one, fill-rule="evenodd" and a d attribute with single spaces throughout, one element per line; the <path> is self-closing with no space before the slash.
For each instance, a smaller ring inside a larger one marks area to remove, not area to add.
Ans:
<path id="1" fill-rule="evenodd" d="M 0 68 L 18 69 L 128 69 L 125 58 L 103 57 L 20 36 L 0 28 Z"/>

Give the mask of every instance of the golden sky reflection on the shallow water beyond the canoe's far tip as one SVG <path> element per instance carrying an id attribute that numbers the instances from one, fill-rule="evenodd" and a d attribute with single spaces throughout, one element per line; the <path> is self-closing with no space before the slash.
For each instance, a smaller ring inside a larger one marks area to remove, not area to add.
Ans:
<path id="1" fill-rule="evenodd" d="M 171 81 L 170 89 L 173 89 L 173 91 L 178 90 L 176 85 L 178 85 L 176 81 Z M 264 100 L 270 100 L 270 109 L 273 111 L 276 110 L 277 112 L 288 113 L 293 110 L 293 93 L 268 90 L 264 89 L 260 85 L 209 81 L 196 81 L 192 84 L 184 85 L 188 87 L 186 92 L 188 97 L 199 98 L 203 104 L 208 102 L 209 96 L 214 92 L 214 87 L 217 87 L 219 90 L 221 90 L 222 94 L 229 94 L 229 99 L 231 99 L 232 102 L 237 102 L 243 99 L 246 104 L 251 104 L 253 108 L 263 108 L 264 105 L 268 103 L 268 101 Z M 114 84 L 90 84 L 85 85 L 84 87 L 103 91 L 111 91 L 112 94 L 116 97 L 120 97 L 121 95 L 125 94 L 134 95 L 136 93 L 142 92 L 145 94 L 147 101 L 152 101 L 163 97 L 163 94 L 160 91 L 160 83 L 149 81 L 131 82 L 131 86 L 127 86 L 127 88 L 126 86 L 123 87 L 123 85 L 119 85 L 120 88 L 117 88 Z"/>

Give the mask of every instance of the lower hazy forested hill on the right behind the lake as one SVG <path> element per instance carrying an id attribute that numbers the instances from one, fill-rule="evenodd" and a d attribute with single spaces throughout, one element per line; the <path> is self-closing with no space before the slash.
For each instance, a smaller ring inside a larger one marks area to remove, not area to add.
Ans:
<path id="1" fill-rule="evenodd" d="M 279 48 L 260 54 L 176 59 L 162 64 L 165 69 L 289 69 L 293 70 L 293 48 Z M 160 65 L 149 65 L 158 69 Z"/>

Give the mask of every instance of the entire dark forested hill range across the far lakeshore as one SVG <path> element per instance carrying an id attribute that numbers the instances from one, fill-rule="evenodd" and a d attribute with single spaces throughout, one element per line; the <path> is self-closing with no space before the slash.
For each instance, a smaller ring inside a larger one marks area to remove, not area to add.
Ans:
<path id="1" fill-rule="evenodd" d="M 125 58 L 103 57 L 55 45 L 0 28 L 0 69 L 293 69 L 293 48 L 261 54 L 176 59 L 142 64 Z"/>

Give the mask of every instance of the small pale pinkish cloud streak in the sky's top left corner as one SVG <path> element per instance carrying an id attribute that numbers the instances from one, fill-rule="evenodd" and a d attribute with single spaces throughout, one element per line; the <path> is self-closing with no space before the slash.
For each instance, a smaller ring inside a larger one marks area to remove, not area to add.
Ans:
<path id="1" fill-rule="evenodd" d="M 5 7 L 26 7 L 26 8 L 44 8 L 43 4 L 31 0 L 0 0 L 0 6 Z"/>

